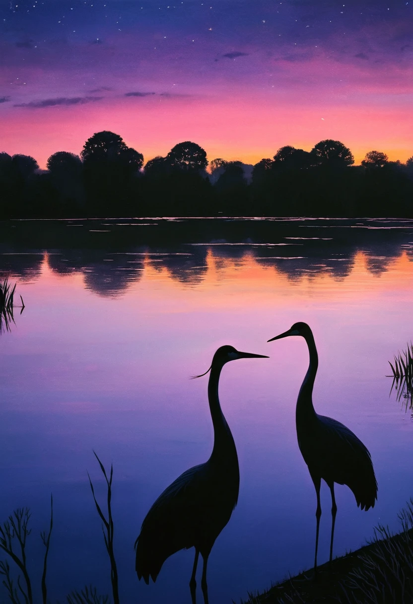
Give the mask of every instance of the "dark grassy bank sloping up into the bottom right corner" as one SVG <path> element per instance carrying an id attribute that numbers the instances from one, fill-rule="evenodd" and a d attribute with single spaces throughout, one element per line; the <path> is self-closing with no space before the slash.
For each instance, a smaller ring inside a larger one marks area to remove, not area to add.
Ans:
<path id="1" fill-rule="evenodd" d="M 401 530 L 379 525 L 372 542 L 318 568 L 290 577 L 243 604 L 412 604 L 413 500 L 399 513 Z"/>

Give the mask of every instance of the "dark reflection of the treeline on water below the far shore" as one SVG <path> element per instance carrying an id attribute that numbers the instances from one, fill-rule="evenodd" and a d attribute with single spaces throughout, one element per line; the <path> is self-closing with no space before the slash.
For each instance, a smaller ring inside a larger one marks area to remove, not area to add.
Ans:
<path id="1" fill-rule="evenodd" d="M 292 280 L 319 273 L 340 280 L 359 251 L 373 274 L 402 251 L 413 259 L 412 236 L 413 221 L 393 219 L 12 220 L 0 223 L 0 274 L 36 279 L 47 252 L 51 269 L 79 272 L 86 288 L 113 296 L 139 281 L 146 260 L 196 285 L 212 250 L 218 269 L 220 261 L 252 258 Z"/>

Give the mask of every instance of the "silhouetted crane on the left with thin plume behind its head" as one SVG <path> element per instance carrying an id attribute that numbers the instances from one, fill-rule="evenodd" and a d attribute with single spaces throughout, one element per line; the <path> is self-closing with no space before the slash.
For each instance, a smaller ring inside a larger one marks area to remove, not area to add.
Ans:
<path id="1" fill-rule="evenodd" d="M 237 449 L 223 416 L 218 382 L 222 367 L 235 359 L 268 358 L 239 352 L 232 346 L 221 346 L 214 354 L 208 382 L 208 400 L 214 426 L 214 447 L 211 457 L 200 466 L 181 474 L 158 497 L 142 522 L 136 539 L 136 573 L 138 579 L 153 582 L 167 557 L 183 548 L 195 548 L 190 580 L 191 598 L 196 602 L 196 567 L 199 554 L 203 558 L 201 587 L 208 604 L 207 562 L 214 542 L 231 518 L 237 504 L 240 473 Z M 208 373 L 202 373 L 205 375 Z M 201 376 L 194 376 L 201 377 Z"/>

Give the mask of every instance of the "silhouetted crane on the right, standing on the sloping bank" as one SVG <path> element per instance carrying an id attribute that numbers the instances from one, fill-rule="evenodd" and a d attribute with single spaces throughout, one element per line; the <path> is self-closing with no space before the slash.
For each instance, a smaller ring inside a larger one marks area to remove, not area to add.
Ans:
<path id="1" fill-rule="evenodd" d="M 353 491 L 357 507 L 368 510 L 374 507 L 377 499 L 377 481 L 368 449 L 361 440 L 342 423 L 331 417 L 316 414 L 313 407 L 312 393 L 318 368 L 318 354 L 313 332 L 307 323 L 294 323 L 284 333 L 268 341 L 286 338 L 287 336 L 303 336 L 309 347 L 310 364 L 298 393 L 295 422 L 298 446 L 304 461 L 309 467 L 317 494 L 317 528 L 314 557 L 314 573 L 317 571 L 318 532 L 321 516 L 320 485 L 321 478 L 330 487 L 331 492 L 331 541 L 330 563 L 333 559 L 333 538 L 336 521 L 336 499 L 334 483 L 347 484 Z"/>

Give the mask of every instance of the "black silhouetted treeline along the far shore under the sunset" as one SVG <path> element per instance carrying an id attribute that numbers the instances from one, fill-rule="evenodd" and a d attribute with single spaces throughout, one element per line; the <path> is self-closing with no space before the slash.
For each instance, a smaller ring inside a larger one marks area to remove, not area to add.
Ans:
<path id="1" fill-rule="evenodd" d="M 95 133 L 80 156 L 59 151 L 40 170 L 28 155 L 0 153 L 0 219 L 96 216 L 413 216 L 413 157 L 324 140 L 310 152 L 284 146 L 248 166 L 213 159 L 191 141 L 144 157 L 119 135 Z"/>

